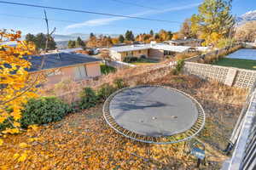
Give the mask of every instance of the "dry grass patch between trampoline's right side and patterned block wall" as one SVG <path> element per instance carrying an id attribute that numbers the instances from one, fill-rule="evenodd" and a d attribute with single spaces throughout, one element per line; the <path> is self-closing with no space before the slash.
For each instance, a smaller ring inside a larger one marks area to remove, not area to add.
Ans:
<path id="1" fill-rule="evenodd" d="M 247 90 L 191 76 L 167 75 L 148 83 L 171 86 L 195 97 L 207 116 L 200 138 L 218 150 L 224 150 L 246 100 Z"/>

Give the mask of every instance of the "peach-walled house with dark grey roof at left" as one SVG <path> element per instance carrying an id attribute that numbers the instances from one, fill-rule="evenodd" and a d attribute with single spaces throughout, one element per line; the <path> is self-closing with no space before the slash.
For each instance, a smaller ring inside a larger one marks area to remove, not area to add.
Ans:
<path id="1" fill-rule="evenodd" d="M 102 59 L 96 59 L 84 54 L 55 53 L 38 56 L 26 56 L 32 63 L 28 70 L 31 74 L 44 71 L 47 84 L 55 84 L 69 79 L 75 82 L 101 76 L 100 64 Z M 42 69 L 41 63 L 44 59 Z"/>

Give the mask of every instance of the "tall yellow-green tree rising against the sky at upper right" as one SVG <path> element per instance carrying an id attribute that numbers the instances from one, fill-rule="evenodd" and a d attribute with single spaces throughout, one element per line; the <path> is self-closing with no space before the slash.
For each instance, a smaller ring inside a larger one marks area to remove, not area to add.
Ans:
<path id="1" fill-rule="evenodd" d="M 204 39 L 203 45 L 217 46 L 218 41 L 229 38 L 235 19 L 231 14 L 231 0 L 204 0 L 193 14 L 191 32 Z"/>

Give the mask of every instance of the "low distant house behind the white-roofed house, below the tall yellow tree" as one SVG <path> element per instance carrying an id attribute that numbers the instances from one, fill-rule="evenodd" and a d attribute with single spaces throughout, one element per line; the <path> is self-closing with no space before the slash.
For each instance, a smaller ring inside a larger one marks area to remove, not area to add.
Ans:
<path id="1" fill-rule="evenodd" d="M 184 38 L 179 40 L 170 40 L 165 43 L 173 46 L 191 46 L 191 47 L 200 47 L 201 43 L 204 42 L 202 39 L 195 38 Z"/>

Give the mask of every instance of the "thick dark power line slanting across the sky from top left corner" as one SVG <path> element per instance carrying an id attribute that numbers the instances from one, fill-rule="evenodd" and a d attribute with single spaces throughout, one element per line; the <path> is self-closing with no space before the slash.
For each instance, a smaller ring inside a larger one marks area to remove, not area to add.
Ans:
<path id="1" fill-rule="evenodd" d="M 7 1 L 0 1 L 0 3 L 7 3 L 7 4 L 12 4 L 12 5 L 20 5 L 20 6 L 33 7 L 33 8 L 44 8 L 44 9 L 49 8 L 49 9 L 54 9 L 54 10 L 69 11 L 69 12 L 76 12 L 76 13 L 99 14 L 99 15 L 130 18 L 130 19 L 137 19 L 137 20 L 151 20 L 151 21 L 167 22 L 167 23 L 180 23 L 180 22 L 171 21 L 171 20 L 157 20 L 157 19 L 129 16 L 129 15 L 123 15 L 123 14 L 98 13 L 98 12 L 79 10 L 79 9 L 73 9 L 73 8 L 57 8 L 57 7 L 49 7 L 49 6 L 43 6 L 43 5 L 28 4 L 28 3 L 13 3 L 13 2 L 7 2 Z"/>

